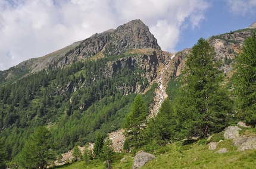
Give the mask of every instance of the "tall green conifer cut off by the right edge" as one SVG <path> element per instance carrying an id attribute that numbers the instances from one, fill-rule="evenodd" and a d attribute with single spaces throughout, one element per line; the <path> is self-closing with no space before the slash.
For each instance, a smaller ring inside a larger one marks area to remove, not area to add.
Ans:
<path id="1" fill-rule="evenodd" d="M 256 125 L 256 35 L 245 39 L 242 51 L 236 57 L 234 72 L 238 116 L 252 126 Z"/>

